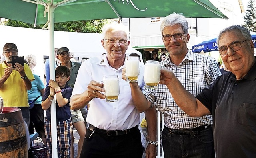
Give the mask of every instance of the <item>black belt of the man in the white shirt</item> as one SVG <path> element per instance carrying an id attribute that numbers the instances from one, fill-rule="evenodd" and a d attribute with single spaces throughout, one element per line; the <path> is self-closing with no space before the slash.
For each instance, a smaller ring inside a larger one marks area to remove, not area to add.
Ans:
<path id="1" fill-rule="evenodd" d="M 118 135 L 126 135 L 128 133 L 131 133 L 133 131 L 136 131 L 138 129 L 138 125 L 136 125 L 135 127 L 132 127 L 130 129 L 126 129 L 124 131 L 107 131 L 105 129 L 99 129 L 97 127 L 94 127 L 93 125 L 89 124 L 89 128 L 91 131 L 95 131 L 96 133 L 100 133 L 100 134 L 104 134 L 107 136 L 118 136 Z"/>

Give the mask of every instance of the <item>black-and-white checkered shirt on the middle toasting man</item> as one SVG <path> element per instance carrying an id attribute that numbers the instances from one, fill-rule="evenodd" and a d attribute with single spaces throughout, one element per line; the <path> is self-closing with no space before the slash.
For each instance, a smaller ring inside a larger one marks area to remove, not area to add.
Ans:
<path id="1" fill-rule="evenodd" d="M 207 88 L 221 75 L 218 63 L 212 57 L 192 53 L 188 51 L 185 58 L 177 66 L 170 60 L 170 55 L 164 62 L 162 68 L 172 70 L 181 84 L 191 94 L 196 96 Z M 164 114 L 164 125 L 172 129 L 192 129 L 201 125 L 211 125 L 212 117 L 190 117 L 172 98 L 172 94 L 166 85 L 159 84 L 158 89 L 144 89 L 146 99 L 152 104 L 156 103 L 158 110 Z"/>

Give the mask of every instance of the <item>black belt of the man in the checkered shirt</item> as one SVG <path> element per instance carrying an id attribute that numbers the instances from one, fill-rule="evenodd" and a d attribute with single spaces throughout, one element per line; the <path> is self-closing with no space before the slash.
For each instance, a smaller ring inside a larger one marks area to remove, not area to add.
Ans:
<path id="1" fill-rule="evenodd" d="M 164 127 L 164 129 L 166 129 L 167 131 L 169 131 L 172 134 L 176 134 L 176 135 L 198 135 L 200 133 L 200 131 L 211 128 L 212 125 L 202 125 L 199 127 L 196 127 L 194 129 L 171 129 L 168 127 Z"/>

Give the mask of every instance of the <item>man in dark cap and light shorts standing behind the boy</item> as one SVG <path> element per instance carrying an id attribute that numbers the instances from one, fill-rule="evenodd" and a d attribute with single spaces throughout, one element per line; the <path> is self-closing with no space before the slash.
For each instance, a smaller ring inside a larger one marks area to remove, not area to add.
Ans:
<path id="1" fill-rule="evenodd" d="M 70 79 L 68 80 L 67 84 L 69 84 L 72 88 L 74 87 L 76 76 L 78 73 L 78 70 L 81 66 L 80 62 L 73 62 L 70 60 L 70 52 L 67 47 L 61 47 L 56 50 L 56 57 L 60 60 L 60 65 L 67 66 L 70 69 Z M 74 57 L 74 54 L 73 54 Z M 82 113 L 80 110 L 71 110 L 71 121 L 72 125 L 76 128 L 80 139 L 78 141 L 78 157 L 80 156 L 82 145 L 84 142 L 84 136 L 86 132 L 86 127 L 84 124 L 84 118 L 82 116 Z M 73 135 L 72 135 L 73 136 Z M 73 142 L 74 137 L 72 137 L 72 143 L 71 143 L 71 157 L 74 155 L 74 149 L 73 149 Z"/>

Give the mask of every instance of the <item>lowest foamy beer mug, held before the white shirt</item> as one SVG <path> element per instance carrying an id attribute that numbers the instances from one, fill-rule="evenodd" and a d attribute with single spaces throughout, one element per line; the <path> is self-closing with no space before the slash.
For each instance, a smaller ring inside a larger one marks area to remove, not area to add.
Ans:
<path id="1" fill-rule="evenodd" d="M 119 96 L 119 79 L 117 75 L 103 76 L 106 102 L 116 102 Z"/>

